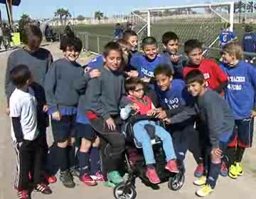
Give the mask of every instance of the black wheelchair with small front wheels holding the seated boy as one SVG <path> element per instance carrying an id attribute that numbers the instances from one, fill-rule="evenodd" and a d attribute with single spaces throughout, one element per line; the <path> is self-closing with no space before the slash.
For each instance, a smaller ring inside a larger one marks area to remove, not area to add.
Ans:
<path id="1" fill-rule="evenodd" d="M 128 173 L 127 181 L 119 183 L 114 187 L 114 198 L 116 199 L 134 199 L 137 196 L 135 179 L 139 177 L 142 183 L 158 188 L 158 185 L 152 184 L 146 177 L 146 163 L 142 152 L 142 144 L 134 138 L 133 125 L 140 120 L 151 120 L 163 126 L 164 123 L 154 117 L 146 115 L 136 115 L 127 119 L 123 128 L 123 133 L 126 136 L 125 150 L 125 171 Z M 165 169 L 166 156 L 162 147 L 161 139 L 154 132 L 148 131 L 153 146 L 154 157 L 156 160 L 155 168 L 159 175 L 160 183 L 168 182 L 168 187 L 171 190 L 179 190 L 185 181 L 183 166 L 178 166 L 180 173 L 170 173 Z M 157 187 L 156 187 L 157 186 Z"/>

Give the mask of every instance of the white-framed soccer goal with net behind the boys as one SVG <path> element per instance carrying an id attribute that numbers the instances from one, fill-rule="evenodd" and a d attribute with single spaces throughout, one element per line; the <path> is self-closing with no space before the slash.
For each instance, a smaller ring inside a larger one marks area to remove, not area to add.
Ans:
<path id="1" fill-rule="evenodd" d="M 234 2 L 195 4 L 186 6 L 164 6 L 141 11 L 147 14 L 147 35 L 161 43 L 166 31 L 174 31 L 180 42 L 196 38 L 206 47 L 218 47 L 218 36 L 224 23 L 230 23 L 233 31 Z M 210 55 L 208 55 L 210 56 Z"/>

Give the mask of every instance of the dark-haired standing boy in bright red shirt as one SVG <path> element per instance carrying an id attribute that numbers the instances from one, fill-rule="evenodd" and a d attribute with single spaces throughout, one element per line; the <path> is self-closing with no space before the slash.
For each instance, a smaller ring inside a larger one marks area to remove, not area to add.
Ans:
<path id="1" fill-rule="evenodd" d="M 203 48 L 201 42 L 196 39 L 186 41 L 184 51 L 188 56 L 188 65 L 183 68 L 183 77 L 186 78 L 186 75 L 191 70 L 200 70 L 205 77 L 206 87 L 210 88 L 211 90 L 215 90 L 218 93 L 222 93 L 223 88 L 228 84 L 228 76 L 225 75 L 225 72 L 223 72 L 215 61 L 203 58 Z M 201 147 L 203 147 L 202 144 Z M 202 155 L 201 158 L 203 158 Z M 194 175 L 196 177 L 201 177 L 203 176 L 204 170 L 203 161 L 202 159 L 198 159 L 196 162 L 198 163 L 198 166 Z M 228 173 L 225 167 L 223 167 L 222 175 L 227 176 L 227 174 Z"/>

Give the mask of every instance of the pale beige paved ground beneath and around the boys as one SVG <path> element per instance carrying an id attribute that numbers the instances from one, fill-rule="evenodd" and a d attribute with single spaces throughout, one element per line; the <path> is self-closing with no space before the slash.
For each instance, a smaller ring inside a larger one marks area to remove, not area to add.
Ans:
<path id="1" fill-rule="evenodd" d="M 62 53 L 56 45 L 46 46 L 52 51 L 55 58 L 60 57 Z M 14 190 L 14 176 L 16 172 L 16 155 L 14 154 L 14 149 L 11 146 L 11 132 L 10 132 L 10 122 L 9 117 L 4 114 L 5 110 L 5 97 L 4 97 L 4 74 L 6 68 L 6 59 L 11 52 L 0 53 L 0 199 L 7 198 L 17 198 L 16 191 Z M 83 59 L 84 63 L 86 59 Z M 50 132 L 49 132 L 50 134 Z M 209 195 L 207 198 L 219 199 L 219 198 L 253 198 L 256 197 L 256 176 L 253 173 L 253 169 L 256 169 L 256 150 L 255 147 L 247 151 L 245 155 L 245 163 L 250 163 L 247 166 L 250 172 L 245 172 L 245 176 L 238 178 L 234 181 L 230 178 L 222 178 L 218 181 L 218 185 L 215 192 Z M 196 186 L 193 185 L 195 178 L 193 177 L 193 169 L 196 164 L 188 154 L 186 158 L 186 183 L 181 190 L 173 192 L 167 187 L 167 183 L 160 185 L 159 190 L 151 190 L 151 188 L 146 187 L 139 180 L 137 180 L 137 198 L 179 198 L 179 199 L 191 199 L 197 198 L 194 195 L 197 190 Z M 255 171 L 254 171 L 255 172 Z M 60 182 L 57 182 L 50 187 L 53 189 L 52 195 L 42 195 L 41 193 L 33 193 L 32 197 L 36 199 L 70 199 L 70 198 L 96 198 L 96 199 L 110 199 L 113 197 L 112 188 L 105 188 L 101 184 L 89 188 L 80 183 L 78 179 L 75 180 L 77 183 L 76 187 L 73 189 L 64 188 Z"/>

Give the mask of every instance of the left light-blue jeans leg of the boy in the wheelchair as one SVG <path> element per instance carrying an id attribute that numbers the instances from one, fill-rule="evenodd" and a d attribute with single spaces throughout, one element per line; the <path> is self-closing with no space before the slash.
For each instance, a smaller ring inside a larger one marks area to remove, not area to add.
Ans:
<path id="1" fill-rule="evenodd" d="M 154 151 L 151 145 L 151 139 L 146 129 L 144 128 L 145 124 L 149 124 L 149 121 L 139 121 L 134 124 L 134 137 L 142 144 L 142 150 L 146 165 L 151 165 L 156 163 L 154 159 Z"/>

